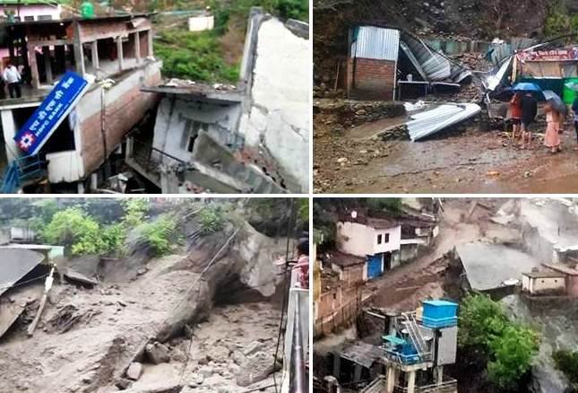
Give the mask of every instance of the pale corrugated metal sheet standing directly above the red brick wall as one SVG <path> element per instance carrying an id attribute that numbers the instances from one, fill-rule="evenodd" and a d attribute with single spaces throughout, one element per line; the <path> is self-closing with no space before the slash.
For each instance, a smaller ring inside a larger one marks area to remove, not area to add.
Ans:
<path id="1" fill-rule="evenodd" d="M 400 31 L 372 26 L 356 29 L 353 57 L 397 61 L 400 51 Z"/>

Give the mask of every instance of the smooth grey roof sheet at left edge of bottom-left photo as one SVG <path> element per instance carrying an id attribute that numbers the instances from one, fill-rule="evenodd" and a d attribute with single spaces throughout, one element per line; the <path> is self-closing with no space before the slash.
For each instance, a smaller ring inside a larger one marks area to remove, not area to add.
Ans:
<path id="1" fill-rule="evenodd" d="M 38 266 L 44 256 L 30 249 L 0 249 L 0 295 Z"/>

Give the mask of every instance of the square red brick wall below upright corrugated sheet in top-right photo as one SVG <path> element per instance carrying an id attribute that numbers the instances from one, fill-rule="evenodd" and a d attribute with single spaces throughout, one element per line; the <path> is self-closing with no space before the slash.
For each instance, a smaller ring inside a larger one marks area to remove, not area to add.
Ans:
<path id="1" fill-rule="evenodd" d="M 395 62 L 370 58 L 353 59 L 351 97 L 363 100 L 393 100 Z"/>

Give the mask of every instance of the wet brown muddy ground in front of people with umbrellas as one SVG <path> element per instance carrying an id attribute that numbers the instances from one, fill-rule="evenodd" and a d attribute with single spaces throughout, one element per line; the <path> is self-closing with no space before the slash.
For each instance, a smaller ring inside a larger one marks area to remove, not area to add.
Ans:
<path id="1" fill-rule="evenodd" d="M 377 121 L 342 130 L 327 115 L 315 117 L 316 193 L 575 193 L 578 152 L 566 125 L 563 152 L 552 155 L 537 134 L 530 150 L 501 131 L 470 123 L 457 133 L 418 142 L 375 137 L 389 124 Z M 535 129 L 543 133 L 545 124 Z"/>

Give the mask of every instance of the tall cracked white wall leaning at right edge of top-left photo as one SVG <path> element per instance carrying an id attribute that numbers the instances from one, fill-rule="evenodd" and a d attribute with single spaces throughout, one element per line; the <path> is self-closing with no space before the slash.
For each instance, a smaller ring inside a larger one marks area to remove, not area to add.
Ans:
<path id="1" fill-rule="evenodd" d="M 303 192 L 309 183 L 308 27 L 296 31 L 296 22 L 288 23 L 256 10 L 251 15 L 241 68 L 249 99 L 239 130 L 248 153 L 268 153 L 287 188 Z"/>

